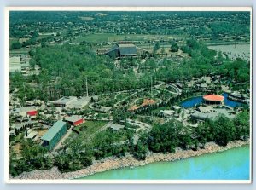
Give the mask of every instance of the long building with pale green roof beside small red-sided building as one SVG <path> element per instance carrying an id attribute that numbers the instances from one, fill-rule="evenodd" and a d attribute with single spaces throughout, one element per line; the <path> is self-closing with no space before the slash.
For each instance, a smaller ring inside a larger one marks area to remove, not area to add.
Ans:
<path id="1" fill-rule="evenodd" d="M 52 150 L 67 132 L 67 123 L 57 121 L 42 137 L 42 145 Z"/>

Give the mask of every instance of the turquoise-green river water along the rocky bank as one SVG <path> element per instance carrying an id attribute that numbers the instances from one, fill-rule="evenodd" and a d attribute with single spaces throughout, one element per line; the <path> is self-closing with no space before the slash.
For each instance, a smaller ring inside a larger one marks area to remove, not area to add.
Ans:
<path id="1" fill-rule="evenodd" d="M 157 162 L 135 168 L 108 170 L 84 180 L 249 180 L 250 148 L 204 154 L 174 162 Z"/>

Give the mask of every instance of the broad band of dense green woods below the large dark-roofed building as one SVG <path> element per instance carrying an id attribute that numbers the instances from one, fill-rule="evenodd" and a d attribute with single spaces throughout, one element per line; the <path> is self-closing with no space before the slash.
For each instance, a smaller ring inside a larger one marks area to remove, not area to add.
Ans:
<path id="1" fill-rule="evenodd" d="M 247 89 L 249 86 L 249 62 L 241 59 L 230 60 L 195 39 L 189 39 L 181 49 L 189 55 L 189 58 L 184 59 L 180 64 L 165 58 L 158 61 L 155 59 L 157 55 L 153 55 L 154 57 L 149 58 L 145 63 L 141 63 L 140 58 L 121 60 L 118 68 L 114 64 L 115 60 L 107 55 L 96 55 L 86 44 L 46 46 L 30 52 L 31 66 L 40 66 L 42 72 L 28 77 L 15 72 L 10 76 L 10 87 L 20 89 L 17 92 L 19 98 L 23 98 L 26 94 L 26 100 L 47 101 L 49 89 L 59 90 L 60 95 L 83 95 L 86 78 L 88 78 L 90 95 L 149 88 L 151 77 L 154 78 L 154 82 L 161 80 L 174 83 L 181 79 L 189 81 L 192 77 L 207 76 L 210 73 L 222 75 L 230 81 L 230 84 L 241 83 L 236 86 L 237 88 L 241 86 L 242 89 Z M 139 66 L 142 73 L 138 76 L 132 66 Z M 31 82 L 37 83 L 37 87 L 30 86 Z M 20 88 L 23 83 L 25 88 Z M 51 97 L 51 99 L 55 98 L 57 97 Z"/>

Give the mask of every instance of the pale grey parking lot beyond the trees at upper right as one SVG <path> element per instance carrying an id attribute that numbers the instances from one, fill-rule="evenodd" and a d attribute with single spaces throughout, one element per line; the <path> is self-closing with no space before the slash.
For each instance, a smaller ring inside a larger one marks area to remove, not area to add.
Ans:
<path id="1" fill-rule="evenodd" d="M 244 60 L 250 60 L 250 44 L 225 44 L 225 45 L 210 45 L 209 49 L 226 53 L 231 59 L 241 57 Z"/>

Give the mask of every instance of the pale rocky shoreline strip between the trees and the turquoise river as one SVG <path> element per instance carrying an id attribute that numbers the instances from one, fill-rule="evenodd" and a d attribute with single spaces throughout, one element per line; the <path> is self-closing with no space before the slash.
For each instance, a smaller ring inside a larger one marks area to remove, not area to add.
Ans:
<path id="1" fill-rule="evenodd" d="M 99 172 L 107 170 L 115 170 L 125 167 L 137 167 L 146 164 L 151 164 L 154 162 L 162 161 L 176 161 L 184 158 L 190 158 L 195 156 L 200 156 L 207 153 L 218 153 L 229 150 L 231 148 L 242 147 L 249 145 L 250 141 L 231 141 L 227 146 L 218 146 L 215 142 L 207 142 L 204 149 L 193 150 L 183 150 L 181 148 L 176 149 L 176 153 L 149 153 L 145 160 L 137 160 L 133 158 L 131 154 L 127 154 L 125 157 L 117 158 L 110 157 L 104 158 L 102 160 L 96 160 L 90 167 L 61 173 L 57 167 L 53 167 L 49 170 L 32 170 L 30 172 L 23 172 L 20 176 L 12 177 L 9 175 L 9 180 L 64 180 L 64 179 L 77 179 L 85 176 L 94 175 Z"/>

